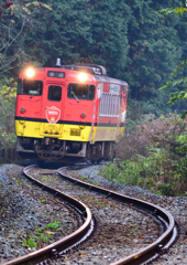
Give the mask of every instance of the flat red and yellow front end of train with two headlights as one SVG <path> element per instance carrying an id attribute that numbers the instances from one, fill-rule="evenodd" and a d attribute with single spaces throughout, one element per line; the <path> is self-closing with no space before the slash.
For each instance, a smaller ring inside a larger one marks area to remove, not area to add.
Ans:
<path id="1" fill-rule="evenodd" d="M 15 108 L 19 155 L 51 161 L 85 159 L 95 123 L 95 77 L 82 72 L 22 71 Z"/>

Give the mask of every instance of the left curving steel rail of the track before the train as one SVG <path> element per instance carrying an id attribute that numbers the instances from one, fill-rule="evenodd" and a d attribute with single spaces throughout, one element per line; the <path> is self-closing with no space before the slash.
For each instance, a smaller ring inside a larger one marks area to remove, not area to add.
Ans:
<path id="1" fill-rule="evenodd" d="M 31 264 L 40 264 L 40 263 L 43 264 L 44 261 L 51 262 L 51 258 L 53 258 L 54 256 L 61 255 L 63 252 L 66 252 L 69 247 L 77 245 L 87 236 L 89 236 L 90 233 L 92 232 L 94 224 L 92 224 L 92 216 L 89 208 L 86 206 L 80 201 L 69 195 L 66 195 L 56 189 L 52 189 L 51 187 L 43 184 L 38 180 L 31 177 L 30 171 L 34 169 L 34 167 L 36 167 L 36 165 L 32 165 L 24 168 L 23 173 L 26 177 L 26 179 L 29 179 L 30 181 L 32 181 L 34 184 L 38 186 L 43 190 L 54 194 L 55 197 L 67 201 L 68 204 L 73 205 L 77 211 L 79 211 L 79 213 L 81 213 L 84 218 L 84 223 L 77 231 L 63 237 L 62 240 L 56 241 L 55 243 L 50 244 L 43 248 L 40 248 L 38 251 L 32 252 L 24 256 L 7 262 L 3 265 L 15 265 L 15 264 L 31 265 Z"/>

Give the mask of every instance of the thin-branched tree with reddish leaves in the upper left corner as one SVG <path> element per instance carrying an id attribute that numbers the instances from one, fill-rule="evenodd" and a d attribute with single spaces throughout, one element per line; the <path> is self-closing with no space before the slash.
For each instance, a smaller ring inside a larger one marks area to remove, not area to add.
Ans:
<path id="1" fill-rule="evenodd" d="M 26 43 L 26 26 L 38 29 L 33 17 L 48 6 L 26 0 L 0 1 L 0 76 L 22 61 Z"/>

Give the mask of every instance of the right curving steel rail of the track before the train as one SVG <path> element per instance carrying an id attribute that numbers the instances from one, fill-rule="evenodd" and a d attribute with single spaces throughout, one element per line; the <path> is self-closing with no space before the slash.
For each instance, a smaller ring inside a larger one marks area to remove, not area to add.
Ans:
<path id="1" fill-rule="evenodd" d="M 148 246 L 144 247 L 143 250 L 141 250 L 128 257 L 121 258 L 121 259 L 112 263 L 111 265 L 147 264 L 147 262 L 151 262 L 151 261 L 155 259 L 156 257 L 158 257 L 160 254 L 163 253 L 164 251 L 166 251 L 176 240 L 177 229 L 176 229 L 174 218 L 165 209 L 160 208 L 155 204 L 135 199 L 135 198 L 127 197 L 127 195 L 123 195 L 123 194 L 120 194 L 120 193 L 117 193 L 117 192 L 113 192 L 113 191 L 110 191 L 107 189 L 102 189 L 100 187 L 97 187 L 97 186 L 94 186 L 90 183 L 86 183 L 86 182 L 84 182 L 81 180 L 77 180 L 73 177 L 68 177 L 65 173 L 66 169 L 68 169 L 68 168 L 65 167 L 65 168 L 58 169 L 58 173 L 59 173 L 59 176 L 63 177 L 63 179 L 72 181 L 72 182 L 74 182 L 78 186 L 81 186 L 86 189 L 89 189 L 91 191 L 102 193 L 114 200 L 132 204 L 140 210 L 144 209 L 144 210 L 148 211 L 153 216 L 156 216 L 165 226 L 164 233 L 155 242 L 153 242 Z"/>

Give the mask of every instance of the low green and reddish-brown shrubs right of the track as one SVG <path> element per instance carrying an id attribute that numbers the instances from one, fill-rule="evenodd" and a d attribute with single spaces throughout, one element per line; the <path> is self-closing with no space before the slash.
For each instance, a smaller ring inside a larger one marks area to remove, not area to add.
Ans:
<path id="1" fill-rule="evenodd" d="M 161 117 L 127 132 L 117 148 L 118 159 L 102 170 L 110 181 L 140 186 L 164 195 L 187 190 L 187 120 Z"/>

